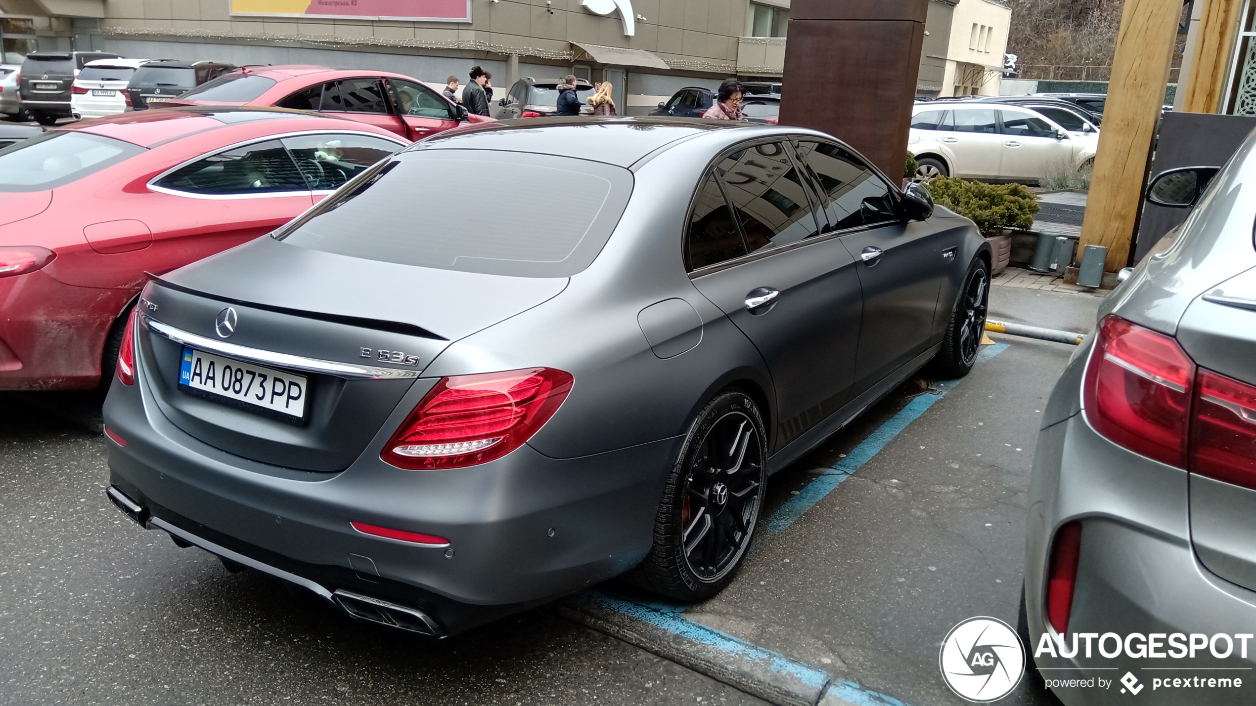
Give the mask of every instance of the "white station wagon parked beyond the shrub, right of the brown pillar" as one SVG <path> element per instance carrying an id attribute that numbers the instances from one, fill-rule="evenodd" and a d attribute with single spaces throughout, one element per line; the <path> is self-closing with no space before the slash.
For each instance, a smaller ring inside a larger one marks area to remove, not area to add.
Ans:
<path id="1" fill-rule="evenodd" d="M 1099 133 L 1070 133 L 1037 110 L 976 100 L 918 103 L 907 148 L 919 178 L 1037 183 L 1091 164 Z"/>

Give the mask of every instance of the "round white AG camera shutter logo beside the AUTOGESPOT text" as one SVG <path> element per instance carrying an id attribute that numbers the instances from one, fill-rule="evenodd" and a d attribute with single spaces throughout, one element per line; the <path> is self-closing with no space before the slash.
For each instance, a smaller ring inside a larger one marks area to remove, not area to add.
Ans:
<path id="1" fill-rule="evenodd" d="M 1011 693 L 1025 676 L 1025 646 L 999 618 L 968 618 L 942 641 L 938 666 L 951 691 L 988 703 Z"/>

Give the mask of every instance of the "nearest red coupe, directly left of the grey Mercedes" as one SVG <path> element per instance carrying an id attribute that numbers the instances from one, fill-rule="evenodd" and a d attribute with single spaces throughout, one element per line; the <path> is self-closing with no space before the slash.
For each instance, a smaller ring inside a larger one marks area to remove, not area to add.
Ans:
<path id="1" fill-rule="evenodd" d="M 0 152 L 0 390 L 108 381 L 144 272 L 268 233 L 404 144 L 293 110 L 181 108 Z"/>

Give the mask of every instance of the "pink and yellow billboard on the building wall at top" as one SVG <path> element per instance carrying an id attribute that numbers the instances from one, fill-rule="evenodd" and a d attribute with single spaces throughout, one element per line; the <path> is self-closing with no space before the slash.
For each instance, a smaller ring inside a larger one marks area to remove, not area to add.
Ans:
<path id="1" fill-rule="evenodd" d="M 470 23 L 471 0 L 231 0 L 231 14 Z"/>

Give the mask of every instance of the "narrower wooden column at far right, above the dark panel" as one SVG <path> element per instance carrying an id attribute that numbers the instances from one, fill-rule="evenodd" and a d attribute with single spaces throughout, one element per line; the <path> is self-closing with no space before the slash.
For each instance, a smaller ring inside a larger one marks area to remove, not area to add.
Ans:
<path id="1" fill-rule="evenodd" d="M 1238 33 L 1243 0 L 1203 0 L 1194 34 L 1194 55 L 1187 76 L 1183 113 L 1220 113 L 1226 98 L 1230 53 Z"/>

